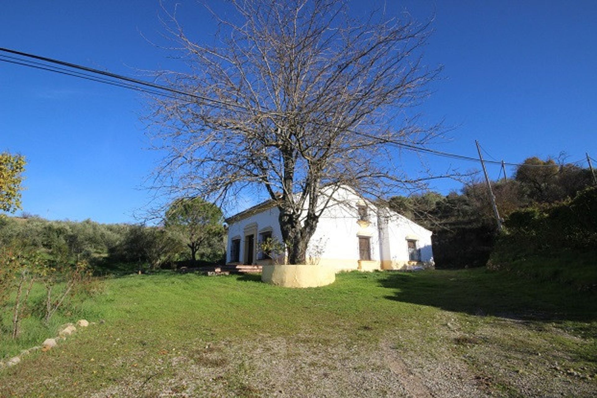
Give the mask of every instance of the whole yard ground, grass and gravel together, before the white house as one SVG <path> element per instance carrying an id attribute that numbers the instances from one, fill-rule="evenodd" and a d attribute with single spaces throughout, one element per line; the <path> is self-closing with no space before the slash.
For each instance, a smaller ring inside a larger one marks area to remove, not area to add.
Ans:
<path id="1" fill-rule="evenodd" d="M 95 325 L 0 371 L 0 396 L 590 397 L 595 298 L 485 269 L 131 275 L 78 306 Z"/>

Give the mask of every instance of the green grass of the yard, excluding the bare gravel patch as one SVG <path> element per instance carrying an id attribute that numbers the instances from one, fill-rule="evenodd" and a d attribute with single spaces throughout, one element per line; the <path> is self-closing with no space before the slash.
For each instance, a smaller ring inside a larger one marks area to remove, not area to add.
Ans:
<path id="1" fill-rule="evenodd" d="M 76 396 L 131 375 L 147 384 L 167 380 L 175 369 L 161 360 L 171 353 L 185 353 L 201 366 L 226 366 L 229 359 L 204 348 L 216 341 L 294 336 L 306 344 L 376 347 L 389 334 L 400 336 L 393 344 L 405 353 L 462 355 L 471 368 L 487 367 L 479 377 L 491 373 L 495 388 L 508 390 L 513 387 L 496 366 L 516 363 L 525 372 L 538 354 L 545 366 L 559 361 L 597 372 L 595 298 L 558 281 L 485 269 L 344 273 L 333 285 L 309 289 L 266 285 L 251 275 L 135 274 L 105 280 L 101 294 L 69 307 L 70 317 L 63 312 L 50 328 L 32 332 L 39 344 L 56 335 L 60 323 L 97 322 L 59 349 L 1 371 L 0 396 L 23 394 L 23 382 L 30 396 Z M 0 352 L 34 345 L 28 336 L 1 340 Z M 489 353 L 495 364 L 485 362 Z M 227 385 L 239 396 L 259 395 L 242 384 L 243 366 L 226 375 Z M 34 382 L 40 375 L 56 381 Z"/>

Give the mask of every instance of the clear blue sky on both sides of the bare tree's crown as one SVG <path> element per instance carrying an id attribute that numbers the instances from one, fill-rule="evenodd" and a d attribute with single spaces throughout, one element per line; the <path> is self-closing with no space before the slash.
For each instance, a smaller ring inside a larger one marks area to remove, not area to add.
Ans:
<path id="1" fill-rule="evenodd" d="M 187 32 L 209 40 L 215 26 L 195 1 L 179 1 Z M 171 7 L 173 1 L 165 1 Z M 420 107 L 424 121 L 454 127 L 433 149 L 522 162 L 530 156 L 597 157 L 597 2 L 352 1 L 362 14 L 435 15 L 425 63 L 442 79 Z M 217 7 L 217 5 L 216 5 Z M 0 47 L 127 76 L 177 67 L 162 40 L 159 4 L 14 1 L 0 13 Z M 0 62 L 0 151 L 26 156 L 23 211 L 50 219 L 134 222 L 152 198 L 144 179 L 161 158 L 147 150 L 144 98 L 134 91 Z M 405 166 L 416 174 L 418 165 Z M 436 174 L 478 163 L 426 156 Z M 586 166 L 586 163 L 583 164 Z M 497 178 L 497 166 L 490 166 Z M 509 173 L 512 174 L 512 169 Z M 438 181 L 443 193 L 457 181 Z M 254 198 L 239 198 L 238 208 Z"/>

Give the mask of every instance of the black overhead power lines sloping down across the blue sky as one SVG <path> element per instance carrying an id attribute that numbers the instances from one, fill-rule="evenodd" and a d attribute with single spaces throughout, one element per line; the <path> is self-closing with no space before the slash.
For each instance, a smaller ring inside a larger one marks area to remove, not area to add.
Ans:
<path id="1" fill-rule="evenodd" d="M 47 70 L 48 72 L 60 73 L 61 75 L 73 76 L 76 78 L 86 79 L 89 81 L 95 81 L 95 82 L 113 85 L 116 87 L 128 88 L 130 90 L 145 92 L 147 94 L 160 95 L 160 96 L 171 98 L 171 99 L 180 99 L 176 95 L 172 95 L 172 94 L 178 94 L 178 95 L 183 95 L 186 97 L 196 98 L 198 100 L 202 100 L 202 101 L 205 101 L 208 103 L 219 104 L 221 106 L 226 106 L 226 107 L 234 107 L 236 109 L 244 110 L 244 111 L 251 112 L 251 113 L 255 112 L 255 110 L 253 108 L 250 108 L 250 107 L 242 105 L 242 104 L 230 103 L 229 101 L 223 101 L 223 100 L 218 100 L 216 98 L 205 97 L 204 95 L 192 94 L 189 92 L 176 90 L 171 87 L 166 87 L 163 85 L 146 82 L 146 81 L 142 81 L 139 79 L 129 78 L 129 77 L 123 76 L 123 75 L 117 75 L 116 73 L 105 72 L 103 70 L 93 69 L 93 68 L 90 68 L 87 66 L 81 66 L 78 64 L 60 61 L 60 60 L 56 60 L 53 58 L 42 57 L 41 55 L 23 53 L 22 51 L 11 50 L 9 48 L 4 48 L 4 47 L 0 47 L 0 52 L 19 55 L 20 57 L 33 58 L 35 60 L 44 61 L 44 62 L 47 62 L 50 64 L 57 64 L 57 65 L 65 66 L 67 68 L 71 68 L 71 69 L 75 69 L 75 70 L 65 69 L 64 67 L 57 67 L 57 66 L 53 66 L 53 65 L 39 63 L 36 61 L 30 61 L 30 60 L 24 60 L 21 58 L 17 58 L 17 57 L 11 57 L 10 55 L 0 54 L 0 61 L 6 62 L 6 63 L 12 63 L 12 64 L 20 65 L 20 66 L 32 67 L 35 69 Z M 84 71 L 84 72 L 79 72 L 79 71 Z M 102 77 L 98 77 L 98 76 L 94 76 L 94 75 L 100 75 Z M 116 80 L 113 80 L 113 79 L 116 79 Z M 139 87 L 139 86 L 141 86 L 141 87 Z M 147 87 L 149 87 L 151 89 L 156 89 L 158 91 L 147 89 Z M 167 94 L 167 93 L 172 93 L 172 94 Z M 275 113 L 270 112 L 268 110 L 259 110 L 259 112 L 264 112 L 264 113 L 269 113 L 270 115 L 275 115 Z M 278 115 L 278 116 L 284 116 L 284 115 Z M 321 125 L 323 127 L 330 127 L 329 124 L 324 124 L 324 123 L 320 123 L 318 125 Z M 377 140 L 378 142 L 381 142 L 381 143 L 393 144 L 393 145 L 402 147 L 404 149 L 413 150 L 415 152 L 424 152 L 424 153 L 429 153 L 429 154 L 435 155 L 435 156 L 443 156 L 445 158 L 452 158 L 452 159 L 470 161 L 470 162 L 475 162 L 475 163 L 479 162 L 478 158 L 473 158 L 471 156 L 458 155 L 456 153 L 448 153 L 448 152 L 442 152 L 439 150 L 433 150 L 433 149 L 429 149 L 426 147 L 416 146 L 414 144 L 407 144 L 407 143 L 404 143 L 401 141 L 390 140 L 388 138 L 379 137 L 377 135 L 367 134 L 367 133 L 364 133 L 361 131 L 355 131 L 352 129 L 345 129 L 345 131 L 352 132 L 353 134 L 358 134 L 363 137 L 368 137 L 368 138 Z M 487 155 L 490 156 L 490 158 L 493 159 L 493 156 L 491 156 L 487 151 L 485 151 L 485 149 L 483 149 L 483 151 L 485 153 L 487 153 Z M 524 167 L 552 167 L 553 166 L 553 165 L 531 165 L 531 164 L 527 164 L 527 163 L 510 163 L 510 162 L 503 162 L 503 161 L 488 161 L 488 160 L 485 160 L 484 162 L 497 164 L 497 165 L 516 166 L 516 167 L 520 167 L 520 166 L 524 166 Z M 580 163 L 580 162 L 582 162 L 582 161 L 575 162 L 573 164 Z"/>

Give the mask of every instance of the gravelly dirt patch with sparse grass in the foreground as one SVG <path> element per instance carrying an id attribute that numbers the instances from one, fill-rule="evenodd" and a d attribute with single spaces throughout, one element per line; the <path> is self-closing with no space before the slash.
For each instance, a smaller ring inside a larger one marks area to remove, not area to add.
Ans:
<path id="1" fill-rule="evenodd" d="M 552 359 L 519 363 L 473 340 L 401 350 L 396 338 L 367 346 L 310 336 L 198 344 L 91 397 L 597 396 L 595 378 L 558 369 Z"/>

